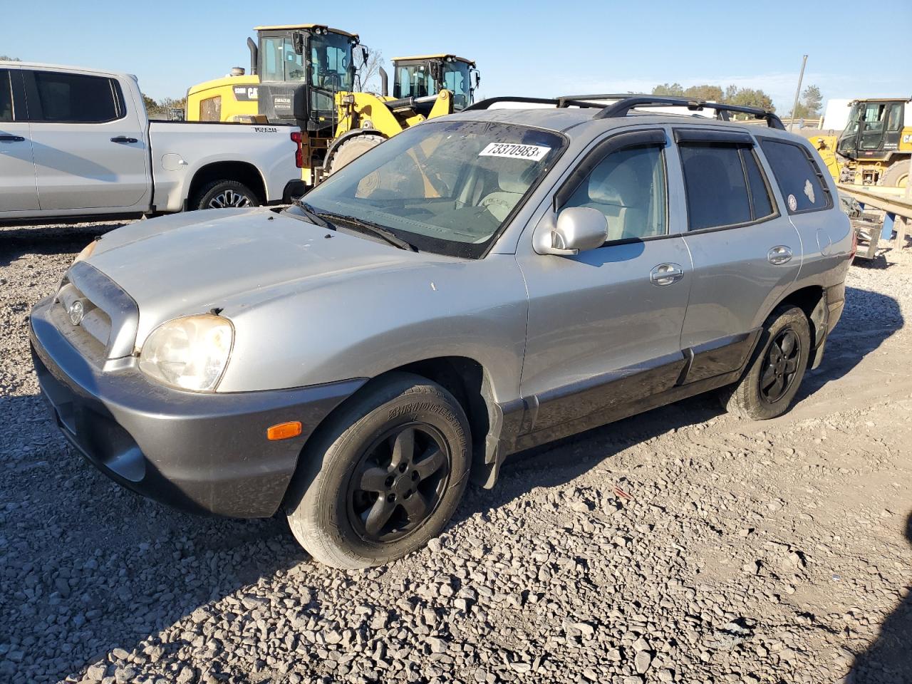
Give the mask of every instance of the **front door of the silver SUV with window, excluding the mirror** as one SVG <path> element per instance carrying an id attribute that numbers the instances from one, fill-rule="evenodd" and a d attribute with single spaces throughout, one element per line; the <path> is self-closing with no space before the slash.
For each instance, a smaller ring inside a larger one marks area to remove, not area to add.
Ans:
<path id="1" fill-rule="evenodd" d="M 602 247 L 556 256 L 521 241 L 516 258 L 529 293 L 521 392 L 532 415 L 522 431 L 530 444 L 614 420 L 672 388 L 684 368 L 691 266 L 682 212 L 668 211 L 668 172 L 679 171 L 668 168 L 666 146 L 664 130 L 607 137 L 556 192 L 558 216 L 572 206 L 605 213 Z M 543 220 L 554 221 L 548 212 Z"/>

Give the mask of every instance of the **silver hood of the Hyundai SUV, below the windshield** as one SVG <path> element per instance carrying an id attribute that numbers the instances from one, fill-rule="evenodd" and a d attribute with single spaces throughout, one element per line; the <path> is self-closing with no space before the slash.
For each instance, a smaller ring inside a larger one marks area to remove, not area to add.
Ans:
<path id="1" fill-rule="evenodd" d="M 174 316 L 215 306 L 230 316 L 231 306 L 326 285 L 334 276 L 420 267 L 442 258 L 261 208 L 133 223 L 105 235 L 88 264 L 136 301 L 141 335 Z"/>

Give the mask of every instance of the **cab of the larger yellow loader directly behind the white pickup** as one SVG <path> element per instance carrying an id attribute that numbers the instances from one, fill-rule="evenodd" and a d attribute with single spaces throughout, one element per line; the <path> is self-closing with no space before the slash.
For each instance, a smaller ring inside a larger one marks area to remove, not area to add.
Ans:
<path id="1" fill-rule="evenodd" d="M 351 92 L 358 36 L 328 26 L 256 26 L 251 65 L 260 79 L 259 113 L 269 121 L 297 123 L 302 130 L 331 129 L 337 92 Z"/>

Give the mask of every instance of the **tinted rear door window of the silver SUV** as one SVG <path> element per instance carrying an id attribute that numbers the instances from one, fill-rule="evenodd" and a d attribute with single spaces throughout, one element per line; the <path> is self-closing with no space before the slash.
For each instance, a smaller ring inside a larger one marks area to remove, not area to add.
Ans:
<path id="1" fill-rule="evenodd" d="M 769 190 L 750 146 L 682 142 L 679 150 L 689 230 L 751 223 L 772 214 Z"/>

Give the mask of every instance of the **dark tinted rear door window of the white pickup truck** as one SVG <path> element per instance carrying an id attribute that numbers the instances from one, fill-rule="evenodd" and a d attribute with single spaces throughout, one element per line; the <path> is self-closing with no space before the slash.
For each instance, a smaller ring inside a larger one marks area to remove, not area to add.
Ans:
<path id="1" fill-rule="evenodd" d="M 60 123 L 104 123 L 119 119 L 123 107 L 120 86 L 111 78 L 33 71 L 39 121 Z"/>

